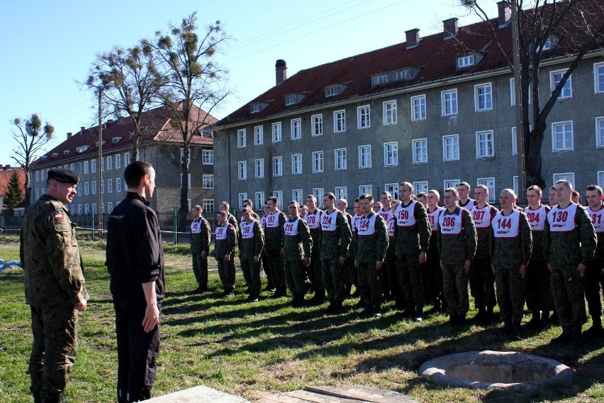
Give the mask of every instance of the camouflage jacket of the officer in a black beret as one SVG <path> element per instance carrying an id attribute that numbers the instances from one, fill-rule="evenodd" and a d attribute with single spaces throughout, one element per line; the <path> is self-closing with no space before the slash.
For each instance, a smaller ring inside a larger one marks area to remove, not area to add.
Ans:
<path id="1" fill-rule="evenodd" d="M 57 199 L 43 194 L 26 210 L 21 227 L 21 263 L 26 302 L 35 307 L 69 307 L 88 299 L 76 224 Z"/>

